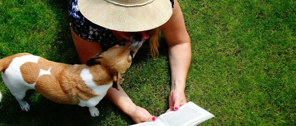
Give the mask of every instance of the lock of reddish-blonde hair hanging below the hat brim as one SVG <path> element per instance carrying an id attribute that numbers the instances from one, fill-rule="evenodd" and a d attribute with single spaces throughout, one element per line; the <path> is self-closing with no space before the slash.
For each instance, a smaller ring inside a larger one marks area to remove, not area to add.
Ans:
<path id="1" fill-rule="evenodd" d="M 151 37 L 150 37 L 150 43 L 149 43 L 149 54 L 152 56 L 152 58 L 155 58 L 155 56 L 158 56 L 158 32 L 159 32 L 160 27 L 154 28 L 151 31 Z"/>

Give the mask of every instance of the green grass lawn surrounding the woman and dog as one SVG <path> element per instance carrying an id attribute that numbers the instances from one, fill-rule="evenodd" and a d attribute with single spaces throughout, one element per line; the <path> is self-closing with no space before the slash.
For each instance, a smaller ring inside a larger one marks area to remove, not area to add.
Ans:
<path id="1" fill-rule="evenodd" d="M 296 125 L 296 1 L 179 0 L 191 38 L 187 101 L 215 115 L 201 125 Z M 0 58 L 28 52 L 80 63 L 70 35 L 67 2 L 0 0 Z M 168 109 L 170 71 L 161 38 L 160 56 L 147 43 L 126 72 L 123 89 L 133 102 L 159 116 Z M 2 79 L 0 125 L 131 125 L 107 99 L 96 107 L 64 105 L 28 91 L 23 112 Z"/>

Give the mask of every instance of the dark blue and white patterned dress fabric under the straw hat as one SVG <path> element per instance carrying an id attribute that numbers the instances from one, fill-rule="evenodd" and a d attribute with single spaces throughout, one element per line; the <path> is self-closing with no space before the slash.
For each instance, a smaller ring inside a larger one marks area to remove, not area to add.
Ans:
<path id="1" fill-rule="evenodd" d="M 68 1 L 70 26 L 79 37 L 101 43 L 103 50 L 119 43 L 112 30 L 92 23 L 81 14 L 77 5 L 78 0 Z M 170 2 L 173 8 L 174 0 L 170 0 Z"/>

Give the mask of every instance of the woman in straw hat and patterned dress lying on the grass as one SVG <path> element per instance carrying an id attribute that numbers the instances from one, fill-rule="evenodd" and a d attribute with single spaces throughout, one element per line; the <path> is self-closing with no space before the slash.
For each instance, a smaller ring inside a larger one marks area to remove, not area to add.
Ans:
<path id="1" fill-rule="evenodd" d="M 143 42 L 150 36 L 150 54 L 158 55 L 158 31 L 168 44 L 171 68 L 169 109 L 186 103 L 184 94 L 191 60 L 190 38 L 177 1 L 174 0 L 69 0 L 70 27 L 81 63 L 103 49 L 140 34 Z M 136 106 L 125 91 L 110 88 L 106 94 L 135 123 L 154 121 L 146 109 Z"/>

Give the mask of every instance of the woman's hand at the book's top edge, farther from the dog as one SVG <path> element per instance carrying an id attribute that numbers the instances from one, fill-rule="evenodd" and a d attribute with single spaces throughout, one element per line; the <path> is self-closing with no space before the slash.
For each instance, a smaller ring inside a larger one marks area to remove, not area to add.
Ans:
<path id="1" fill-rule="evenodd" d="M 170 111 L 177 111 L 180 106 L 183 104 L 186 104 L 186 98 L 185 98 L 185 93 L 184 90 L 178 90 L 178 89 L 173 89 L 170 91 L 170 95 L 168 96 L 168 103 L 169 103 L 169 109 L 165 112 L 170 112 Z"/>

